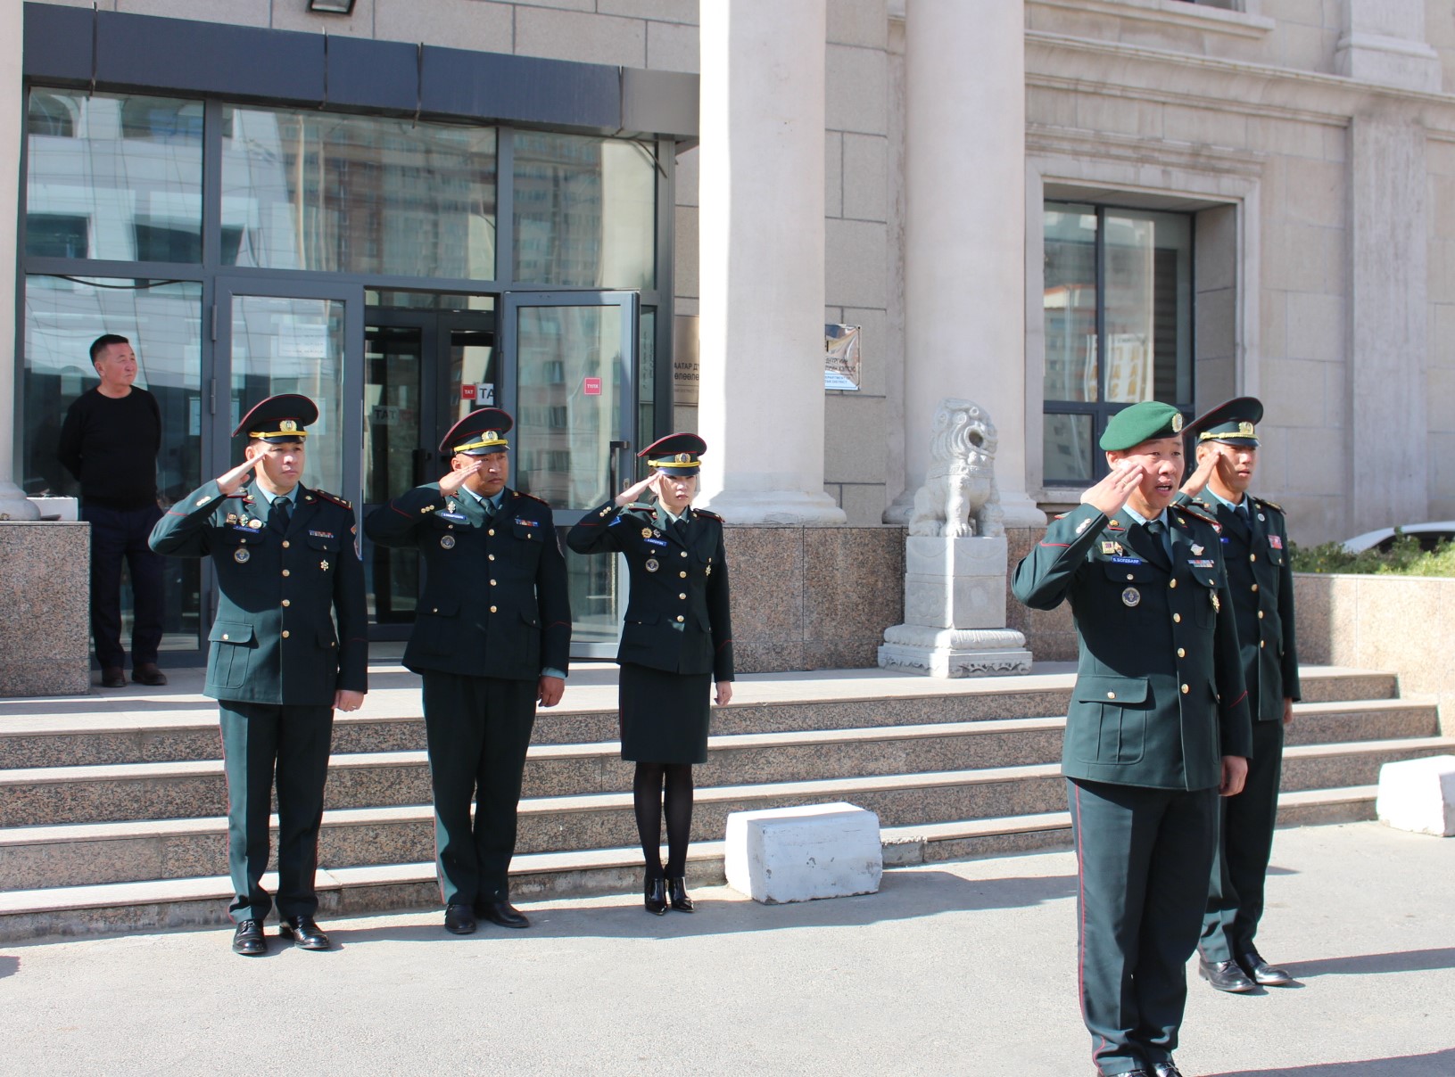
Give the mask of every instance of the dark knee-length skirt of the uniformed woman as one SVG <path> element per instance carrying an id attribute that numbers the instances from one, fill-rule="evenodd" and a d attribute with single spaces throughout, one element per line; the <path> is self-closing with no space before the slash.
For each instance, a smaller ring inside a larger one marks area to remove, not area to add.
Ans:
<path id="1" fill-rule="evenodd" d="M 711 673 L 666 673 L 621 666 L 621 759 L 631 763 L 706 763 Z"/>

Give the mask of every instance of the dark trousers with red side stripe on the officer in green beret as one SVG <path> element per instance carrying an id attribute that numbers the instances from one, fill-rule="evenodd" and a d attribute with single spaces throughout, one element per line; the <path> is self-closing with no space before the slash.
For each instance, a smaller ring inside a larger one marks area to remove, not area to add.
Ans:
<path id="1" fill-rule="evenodd" d="M 1103 1074 L 1171 1057 L 1187 1003 L 1218 791 L 1068 779 L 1077 842 L 1078 981 Z"/>

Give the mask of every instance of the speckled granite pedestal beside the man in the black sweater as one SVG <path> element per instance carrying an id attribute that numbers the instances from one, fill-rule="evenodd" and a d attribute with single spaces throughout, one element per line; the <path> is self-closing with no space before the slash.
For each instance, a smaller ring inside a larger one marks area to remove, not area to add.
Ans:
<path id="1" fill-rule="evenodd" d="M 0 523 L 0 696 L 90 692 L 90 525 Z"/>

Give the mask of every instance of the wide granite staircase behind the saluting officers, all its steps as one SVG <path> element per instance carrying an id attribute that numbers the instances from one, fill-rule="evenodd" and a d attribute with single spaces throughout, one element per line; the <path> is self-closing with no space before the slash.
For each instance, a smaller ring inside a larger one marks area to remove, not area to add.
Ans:
<path id="1" fill-rule="evenodd" d="M 0 705 L 0 940 L 227 920 L 217 709 L 167 689 Z M 758 674 L 714 715 L 697 769 L 690 874 L 722 881 L 729 812 L 850 801 L 877 812 L 886 865 L 1068 847 L 1056 760 L 1069 667 L 931 682 L 879 670 Z M 1392 674 L 1311 667 L 1289 727 L 1282 824 L 1374 815 L 1379 766 L 1455 750 L 1432 699 Z M 438 907 L 418 680 L 375 666 L 335 721 L 320 919 Z M 633 892 L 631 766 L 614 667 L 573 670 L 525 770 L 512 895 Z"/>

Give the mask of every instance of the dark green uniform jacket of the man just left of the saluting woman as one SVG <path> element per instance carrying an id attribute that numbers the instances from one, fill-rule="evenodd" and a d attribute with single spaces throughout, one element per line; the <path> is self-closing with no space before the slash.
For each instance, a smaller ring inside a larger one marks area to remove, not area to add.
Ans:
<path id="1" fill-rule="evenodd" d="M 546 501 L 506 488 L 486 520 L 473 494 L 429 483 L 371 512 L 364 532 L 425 562 L 407 669 L 503 680 L 567 669 L 566 558 Z"/>

